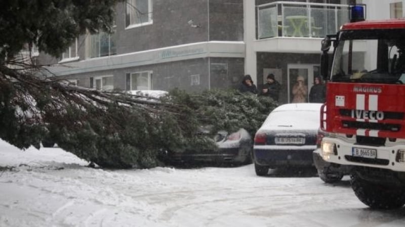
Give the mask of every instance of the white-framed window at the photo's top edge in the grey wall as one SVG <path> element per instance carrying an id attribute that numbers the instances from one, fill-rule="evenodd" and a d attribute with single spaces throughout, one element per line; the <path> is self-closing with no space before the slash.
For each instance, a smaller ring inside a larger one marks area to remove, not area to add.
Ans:
<path id="1" fill-rule="evenodd" d="M 126 27 L 152 23 L 152 0 L 127 0 L 126 5 Z"/>

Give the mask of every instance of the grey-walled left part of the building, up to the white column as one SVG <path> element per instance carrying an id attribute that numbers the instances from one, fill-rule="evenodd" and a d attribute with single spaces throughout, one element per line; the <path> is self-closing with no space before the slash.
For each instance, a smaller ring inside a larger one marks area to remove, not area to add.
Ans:
<path id="1" fill-rule="evenodd" d="M 113 34 L 77 38 L 42 63 L 79 86 L 189 91 L 235 87 L 244 74 L 242 0 L 127 0 Z"/>

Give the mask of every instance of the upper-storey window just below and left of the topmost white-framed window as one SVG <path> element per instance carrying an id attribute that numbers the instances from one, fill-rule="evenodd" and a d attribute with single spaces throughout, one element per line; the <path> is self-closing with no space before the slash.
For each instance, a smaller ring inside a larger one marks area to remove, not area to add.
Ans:
<path id="1" fill-rule="evenodd" d="M 90 35 L 90 58 L 99 58 L 101 56 L 109 56 L 117 53 L 115 45 L 116 34 L 99 32 Z"/>

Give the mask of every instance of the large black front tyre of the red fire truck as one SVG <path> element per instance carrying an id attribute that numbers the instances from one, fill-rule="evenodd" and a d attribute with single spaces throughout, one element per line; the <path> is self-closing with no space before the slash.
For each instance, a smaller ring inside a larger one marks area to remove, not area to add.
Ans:
<path id="1" fill-rule="evenodd" d="M 396 209 L 405 204 L 405 189 L 376 184 L 350 175 L 351 188 L 357 198 L 373 209 Z"/>

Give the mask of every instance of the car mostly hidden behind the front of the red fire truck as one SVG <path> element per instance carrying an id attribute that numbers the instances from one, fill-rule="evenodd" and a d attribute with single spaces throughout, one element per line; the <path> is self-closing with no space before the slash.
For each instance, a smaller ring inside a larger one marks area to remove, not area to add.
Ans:
<path id="1" fill-rule="evenodd" d="M 344 175 L 349 174 L 349 166 L 336 164 L 323 160 L 320 155 L 320 144 L 322 138 L 328 133 L 322 130 L 318 130 L 316 139 L 316 149 L 313 151 L 313 163 L 315 164 L 319 178 L 325 183 L 336 183 L 342 180 Z"/>

